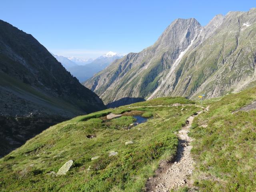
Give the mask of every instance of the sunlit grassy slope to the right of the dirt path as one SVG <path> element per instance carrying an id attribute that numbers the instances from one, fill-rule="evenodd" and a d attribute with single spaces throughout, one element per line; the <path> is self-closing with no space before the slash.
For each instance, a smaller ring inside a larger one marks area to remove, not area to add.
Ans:
<path id="1" fill-rule="evenodd" d="M 209 112 L 195 118 L 193 179 L 200 191 L 256 191 L 256 110 L 232 114 L 253 100 L 255 87 L 208 100 Z"/>

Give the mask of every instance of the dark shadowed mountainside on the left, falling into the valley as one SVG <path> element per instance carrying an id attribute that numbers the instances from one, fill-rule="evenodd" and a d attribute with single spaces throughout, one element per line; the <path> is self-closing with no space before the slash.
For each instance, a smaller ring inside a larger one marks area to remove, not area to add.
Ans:
<path id="1" fill-rule="evenodd" d="M 56 122 L 105 108 L 32 35 L 0 20 L 0 155 Z"/>

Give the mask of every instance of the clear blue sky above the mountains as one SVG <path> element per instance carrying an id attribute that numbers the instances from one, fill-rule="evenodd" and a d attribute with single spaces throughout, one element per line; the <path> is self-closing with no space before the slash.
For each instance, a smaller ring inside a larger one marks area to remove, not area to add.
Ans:
<path id="1" fill-rule="evenodd" d="M 176 18 L 206 25 L 216 14 L 252 7 L 255 0 L 1 0 L 0 19 L 54 54 L 95 58 L 139 52 Z"/>

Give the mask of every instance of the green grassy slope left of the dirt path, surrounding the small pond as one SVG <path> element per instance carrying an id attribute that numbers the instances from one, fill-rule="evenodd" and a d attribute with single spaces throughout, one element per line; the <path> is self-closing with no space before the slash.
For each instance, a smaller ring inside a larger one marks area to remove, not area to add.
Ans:
<path id="1" fill-rule="evenodd" d="M 52 126 L 0 159 L 0 189 L 26 192 L 140 191 L 147 178 L 154 174 L 159 160 L 174 156 L 178 144 L 175 132 L 199 109 L 196 106 L 146 106 L 176 102 L 192 103 L 184 98 L 159 98 L 78 116 Z M 134 106 L 139 107 L 131 108 Z M 153 115 L 153 118 L 131 130 L 123 127 L 133 121 L 129 116 L 108 122 L 100 118 L 110 112 L 118 114 L 132 110 L 142 111 L 143 116 Z M 96 138 L 88 139 L 87 135 Z M 129 140 L 134 144 L 125 146 Z M 110 151 L 116 151 L 118 155 L 109 157 Z M 91 160 L 94 156 L 100 158 Z M 70 159 L 74 160 L 74 167 L 66 176 L 46 174 L 57 172 Z"/>

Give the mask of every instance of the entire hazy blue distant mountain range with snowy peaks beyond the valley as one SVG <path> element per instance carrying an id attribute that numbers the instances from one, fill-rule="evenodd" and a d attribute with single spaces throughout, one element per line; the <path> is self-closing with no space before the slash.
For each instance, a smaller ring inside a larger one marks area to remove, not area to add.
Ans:
<path id="1" fill-rule="evenodd" d="M 54 54 L 53 56 L 81 83 L 91 78 L 97 72 L 104 70 L 114 60 L 122 58 L 122 55 L 112 51 L 95 60 L 83 60 L 75 57 L 66 58 Z"/>

